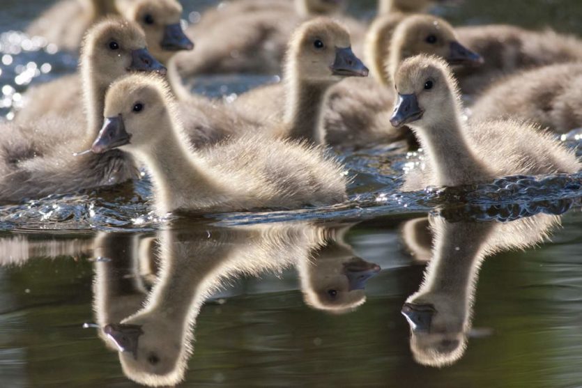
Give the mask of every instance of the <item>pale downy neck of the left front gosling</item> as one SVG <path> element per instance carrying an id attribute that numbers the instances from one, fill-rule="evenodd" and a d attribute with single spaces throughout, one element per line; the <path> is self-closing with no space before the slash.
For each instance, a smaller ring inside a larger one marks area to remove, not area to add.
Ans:
<path id="1" fill-rule="evenodd" d="M 155 203 L 160 216 L 180 208 L 208 208 L 220 201 L 226 188 L 218 185 L 198 153 L 190 144 L 181 125 L 165 117 L 160 127 L 171 128 L 148 147 L 128 151 L 146 164 L 151 174 Z"/>

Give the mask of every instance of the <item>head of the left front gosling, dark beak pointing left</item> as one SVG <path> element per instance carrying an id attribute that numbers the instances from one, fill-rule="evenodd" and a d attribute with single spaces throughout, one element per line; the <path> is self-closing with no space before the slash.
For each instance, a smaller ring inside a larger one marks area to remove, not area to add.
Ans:
<path id="1" fill-rule="evenodd" d="M 166 128 L 176 118 L 172 100 L 167 83 L 155 75 L 129 75 L 115 82 L 105 95 L 105 121 L 91 151 L 140 150 L 167 137 Z"/>

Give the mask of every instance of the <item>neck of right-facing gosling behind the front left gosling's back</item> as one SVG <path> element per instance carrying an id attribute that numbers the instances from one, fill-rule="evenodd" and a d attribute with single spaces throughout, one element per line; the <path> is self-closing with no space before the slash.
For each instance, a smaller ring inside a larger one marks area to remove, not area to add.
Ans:
<path id="1" fill-rule="evenodd" d="M 321 111 L 331 84 L 301 79 L 289 79 L 288 82 L 285 123 L 289 125 L 289 137 L 324 143 L 325 134 L 320 125 Z"/>

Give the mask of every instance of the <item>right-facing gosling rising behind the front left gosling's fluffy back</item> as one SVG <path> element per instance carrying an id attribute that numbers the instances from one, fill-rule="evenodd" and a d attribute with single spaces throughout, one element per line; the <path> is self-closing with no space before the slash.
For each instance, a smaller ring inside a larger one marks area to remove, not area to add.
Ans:
<path id="1" fill-rule="evenodd" d="M 282 137 L 323 143 L 326 92 L 345 77 L 367 77 L 368 69 L 353 54 L 349 32 L 328 18 L 305 22 L 293 33 L 285 68 L 282 84 L 245 93 L 235 107 L 254 112 L 257 120 L 282 122 L 275 127 Z"/>

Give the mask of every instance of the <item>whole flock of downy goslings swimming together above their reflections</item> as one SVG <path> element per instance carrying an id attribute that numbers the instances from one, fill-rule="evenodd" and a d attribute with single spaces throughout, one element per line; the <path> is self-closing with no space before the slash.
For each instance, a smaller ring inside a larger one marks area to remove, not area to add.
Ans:
<path id="1" fill-rule="evenodd" d="M 441 2 L 379 0 L 367 22 L 344 0 L 231 0 L 185 28 L 177 0 L 61 0 L 26 32 L 79 50 L 79 68 L 0 124 L 0 202 L 144 167 L 162 217 L 334 205 L 349 180 L 329 148 L 402 140 L 426 160 L 406 190 L 580 171 L 556 134 L 582 127 L 582 40 L 452 26 L 427 13 Z M 233 101 L 185 86 L 224 73 L 282 82 Z"/>

